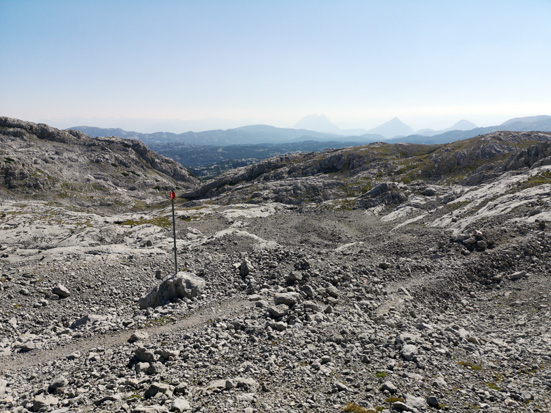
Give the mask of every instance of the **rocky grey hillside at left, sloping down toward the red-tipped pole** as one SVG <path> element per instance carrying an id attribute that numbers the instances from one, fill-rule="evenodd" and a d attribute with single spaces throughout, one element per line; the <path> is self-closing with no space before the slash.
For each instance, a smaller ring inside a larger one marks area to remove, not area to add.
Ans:
<path id="1" fill-rule="evenodd" d="M 0 199 L 143 208 L 199 182 L 177 162 L 133 139 L 90 138 L 0 117 Z"/>

